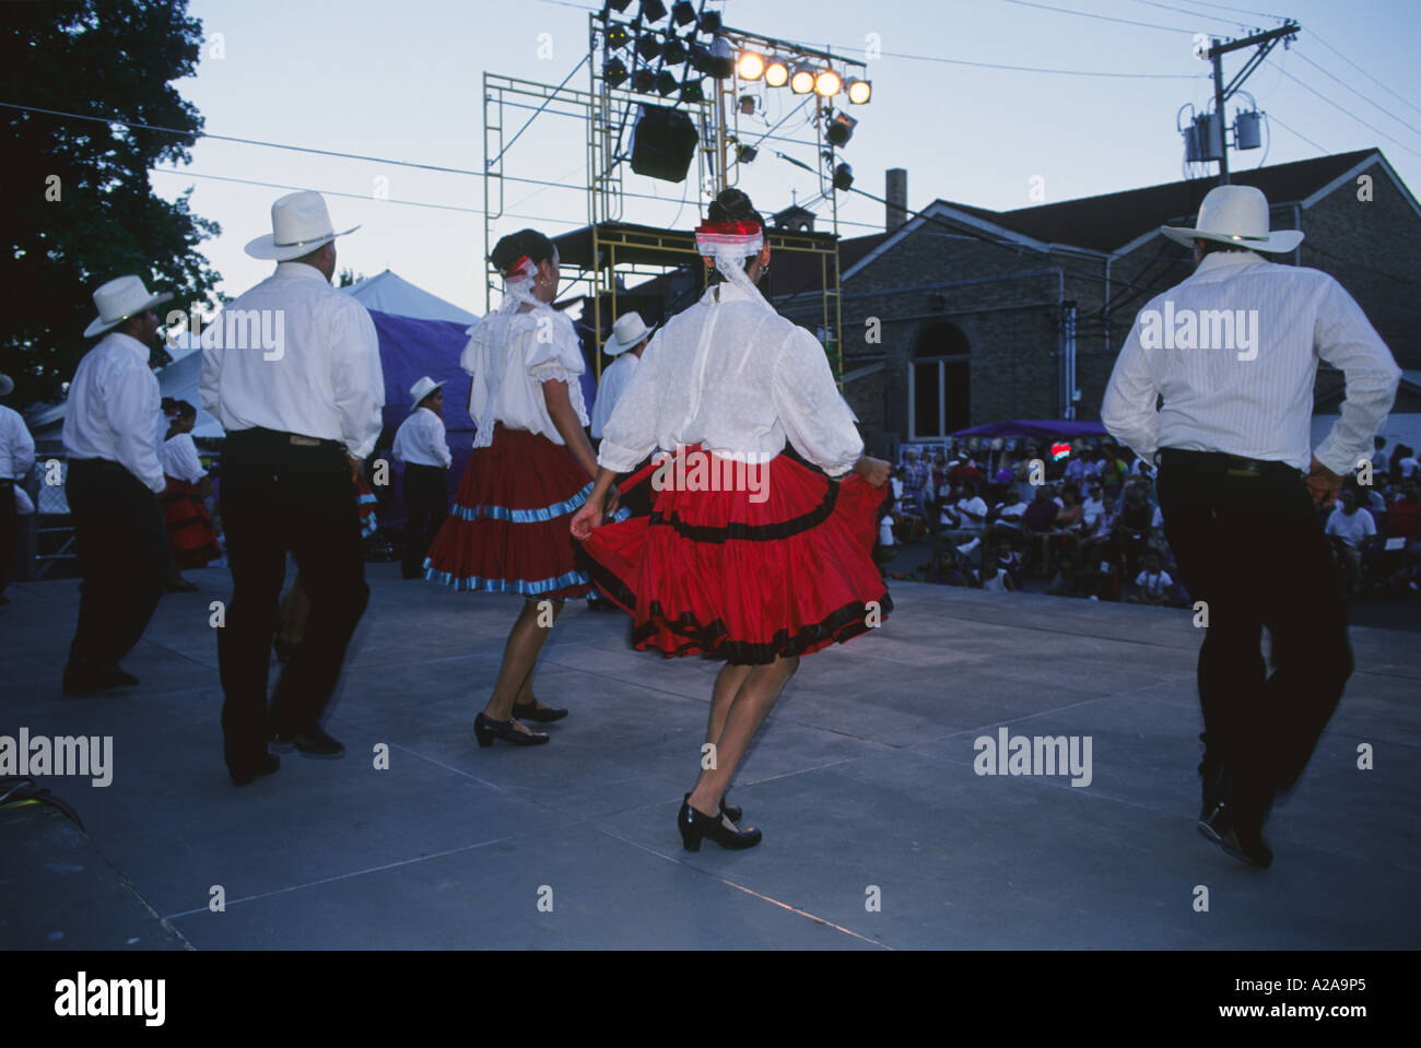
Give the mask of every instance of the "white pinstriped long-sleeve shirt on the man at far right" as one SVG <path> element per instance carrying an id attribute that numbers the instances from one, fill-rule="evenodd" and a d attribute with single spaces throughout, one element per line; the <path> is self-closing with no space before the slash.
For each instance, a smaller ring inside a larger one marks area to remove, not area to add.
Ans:
<path id="1" fill-rule="evenodd" d="M 1341 369 L 1347 395 L 1314 452 L 1319 361 Z M 1150 462 L 1157 449 L 1178 447 L 1306 471 L 1316 454 L 1333 473 L 1350 473 L 1371 453 L 1400 378 L 1361 307 L 1326 273 L 1221 251 L 1141 310 L 1100 419 Z"/>

